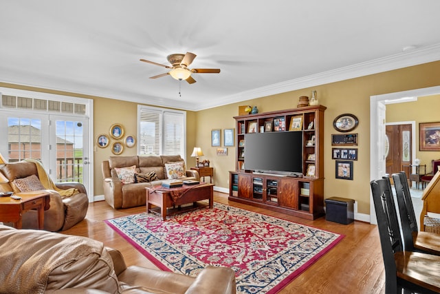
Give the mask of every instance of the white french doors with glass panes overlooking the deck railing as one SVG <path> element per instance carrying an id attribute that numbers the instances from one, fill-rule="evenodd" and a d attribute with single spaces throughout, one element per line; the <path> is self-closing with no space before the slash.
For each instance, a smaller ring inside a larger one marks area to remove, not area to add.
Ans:
<path id="1" fill-rule="evenodd" d="M 82 182 L 93 194 L 87 117 L 0 111 L 0 134 L 8 162 L 39 159 L 54 182 Z"/>

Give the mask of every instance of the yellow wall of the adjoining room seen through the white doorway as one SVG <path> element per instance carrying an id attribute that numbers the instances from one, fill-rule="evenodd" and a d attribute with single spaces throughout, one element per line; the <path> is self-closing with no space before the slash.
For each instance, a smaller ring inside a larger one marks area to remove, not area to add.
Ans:
<path id="1" fill-rule="evenodd" d="M 412 158 L 419 158 L 426 165 L 426 172 L 432 171 L 431 160 L 440 158 L 440 151 L 419 150 L 419 123 L 440 122 L 440 95 L 419 97 L 417 101 L 386 105 L 386 122 L 415 121 L 416 151 Z M 421 169 L 423 172 L 423 169 Z"/>

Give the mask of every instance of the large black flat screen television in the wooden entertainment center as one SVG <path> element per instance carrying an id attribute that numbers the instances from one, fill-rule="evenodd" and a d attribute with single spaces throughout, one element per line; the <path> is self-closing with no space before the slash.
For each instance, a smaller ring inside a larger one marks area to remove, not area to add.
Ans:
<path id="1" fill-rule="evenodd" d="M 303 174 L 303 132 L 245 134 L 245 169 L 265 174 Z"/>

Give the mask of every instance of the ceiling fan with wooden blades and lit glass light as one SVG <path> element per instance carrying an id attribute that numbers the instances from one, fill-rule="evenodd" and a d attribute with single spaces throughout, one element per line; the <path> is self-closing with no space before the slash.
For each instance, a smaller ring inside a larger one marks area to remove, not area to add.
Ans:
<path id="1" fill-rule="evenodd" d="M 172 66 L 155 63 L 145 59 L 140 59 L 140 61 L 170 69 L 169 72 L 158 74 L 157 76 L 150 76 L 150 78 L 160 78 L 161 76 L 166 76 L 169 74 L 176 80 L 185 80 L 190 84 L 196 82 L 195 79 L 192 78 L 191 74 L 218 74 L 220 72 L 218 68 L 188 68 L 188 66 L 190 66 L 192 61 L 195 59 L 195 56 L 197 55 L 191 52 L 186 52 L 186 54 L 170 54 L 166 56 L 166 59 L 169 63 L 171 63 Z"/>

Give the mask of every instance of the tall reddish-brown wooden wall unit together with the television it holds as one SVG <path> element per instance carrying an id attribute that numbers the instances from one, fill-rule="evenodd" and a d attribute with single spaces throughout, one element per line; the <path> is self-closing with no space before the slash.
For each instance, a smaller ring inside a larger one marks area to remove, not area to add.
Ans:
<path id="1" fill-rule="evenodd" d="M 309 220 L 323 216 L 326 108 L 314 105 L 234 116 L 238 144 L 236 170 L 230 171 L 229 200 Z M 259 142 L 270 142 L 272 149 L 259 149 L 256 145 L 264 145 Z M 271 160 L 292 166 L 264 169 L 272 167 Z"/>

